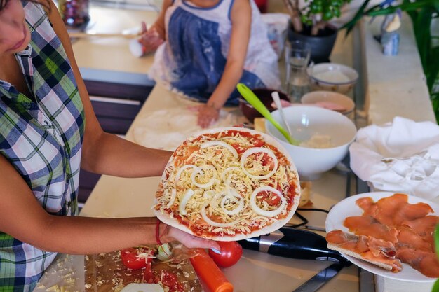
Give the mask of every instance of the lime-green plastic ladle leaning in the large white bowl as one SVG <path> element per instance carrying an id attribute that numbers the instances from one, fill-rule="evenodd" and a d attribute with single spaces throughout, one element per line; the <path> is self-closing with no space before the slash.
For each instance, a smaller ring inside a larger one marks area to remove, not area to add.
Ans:
<path id="1" fill-rule="evenodd" d="M 293 139 L 290 134 L 288 134 L 288 132 L 273 118 L 273 116 L 271 116 L 270 111 L 266 108 L 266 106 L 264 106 L 261 100 L 255 95 L 255 93 L 252 92 L 250 88 L 243 83 L 238 83 L 238 85 L 236 85 L 236 89 L 238 89 L 238 92 L 241 93 L 249 104 L 259 111 L 264 118 L 269 120 L 270 123 L 273 124 L 273 126 L 276 127 L 281 134 L 283 134 L 283 137 L 285 137 L 290 144 L 296 146 L 300 144 L 300 141 Z"/>

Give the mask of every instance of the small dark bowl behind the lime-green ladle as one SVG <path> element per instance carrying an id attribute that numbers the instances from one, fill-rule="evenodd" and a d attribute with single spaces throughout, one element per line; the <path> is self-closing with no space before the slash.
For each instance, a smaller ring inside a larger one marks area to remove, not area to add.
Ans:
<path id="1" fill-rule="evenodd" d="M 275 108 L 271 106 L 273 103 L 273 97 L 271 97 L 271 92 L 277 91 L 279 92 L 279 97 L 281 99 L 285 99 L 288 102 L 288 96 L 279 90 L 269 89 L 269 88 L 255 88 L 252 90 L 257 97 L 261 100 L 261 102 L 266 106 L 269 111 L 274 111 Z M 249 104 L 243 97 L 239 97 L 239 108 L 241 109 L 245 118 L 248 119 L 250 123 L 253 123 L 255 118 L 260 118 L 262 115 L 257 111 L 251 104 Z"/>

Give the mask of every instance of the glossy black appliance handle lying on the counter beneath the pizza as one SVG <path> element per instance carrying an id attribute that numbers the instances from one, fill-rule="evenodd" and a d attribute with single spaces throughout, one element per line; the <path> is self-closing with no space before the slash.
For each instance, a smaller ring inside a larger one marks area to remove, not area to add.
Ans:
<path id="1" fill-rule="evenodd" d="M 263 251 L 285 258 L 346 262 L 346 258 L 338 251 L 327 248 L 325 237 L 308 230 L 281 228 L 269 235 L 241 240 L 239 244 L 244 249 Z"/>

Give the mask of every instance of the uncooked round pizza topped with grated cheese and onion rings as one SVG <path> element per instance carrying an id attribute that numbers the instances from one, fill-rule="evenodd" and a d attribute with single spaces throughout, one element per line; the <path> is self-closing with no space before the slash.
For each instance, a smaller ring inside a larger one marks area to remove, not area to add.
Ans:
<path id="1" fill-rule="evenodd" d="M 156 216 L 198 237 L 238 240 L 277 230 L 299 204 L 290 155 L 272 137 L 208 130 L 173 153 L 156 193 Z"/>

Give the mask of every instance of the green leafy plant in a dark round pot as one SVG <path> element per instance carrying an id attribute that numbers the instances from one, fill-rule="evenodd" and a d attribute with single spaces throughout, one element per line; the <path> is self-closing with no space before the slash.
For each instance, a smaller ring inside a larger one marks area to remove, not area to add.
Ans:
<path id="1" fill-rule="evenodd" d="M 330 25 L 330 20 L 338 18 L 342 6 L 351 0 L 283 1 L 291 18 L 288 39 L 309 43 L 311 60 L 328 62 L 337 38 L 337 28 Z"/>

